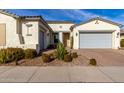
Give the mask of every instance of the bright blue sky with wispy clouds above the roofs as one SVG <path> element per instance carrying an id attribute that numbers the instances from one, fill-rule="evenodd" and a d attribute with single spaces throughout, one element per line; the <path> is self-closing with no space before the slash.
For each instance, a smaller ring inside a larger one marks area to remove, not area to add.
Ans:
<path id="1" fill-rule="evenodd" d="M 17 15 L 41 15 L 45 20 L 80 23 L 94 17 L 102 17 L 124 25 L 124 9 L 12 9 Z"/>

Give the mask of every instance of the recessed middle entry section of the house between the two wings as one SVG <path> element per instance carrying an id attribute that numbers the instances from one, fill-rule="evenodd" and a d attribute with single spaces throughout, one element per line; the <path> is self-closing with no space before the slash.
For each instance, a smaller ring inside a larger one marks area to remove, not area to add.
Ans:
<path id="1" fill-rule="evenodd" d="M 47 21 L 47 23 L 54 31 L 54 43 L 60 40 L 65 47 L 70 47 L 70 27 L 74 23 L 69 21 Z"/>

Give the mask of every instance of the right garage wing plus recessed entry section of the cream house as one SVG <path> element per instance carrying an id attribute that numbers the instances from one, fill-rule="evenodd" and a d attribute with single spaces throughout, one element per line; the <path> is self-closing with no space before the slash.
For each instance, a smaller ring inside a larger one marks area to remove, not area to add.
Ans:
<path id="1" fill-rule="evenodd" d="M 80 24 L 68 21 L 47 22 L 55 33 L 55 38 L 65 46 L 70 46 L 73 37 L 73 48 L 111 48 L 120 47 L 121 24 L 100 17 L 90 19 Z"/>

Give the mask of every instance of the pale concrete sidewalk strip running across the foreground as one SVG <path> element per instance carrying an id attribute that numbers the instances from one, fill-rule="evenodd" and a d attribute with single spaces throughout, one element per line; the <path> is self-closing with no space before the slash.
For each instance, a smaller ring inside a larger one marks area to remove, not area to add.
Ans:
<path id="1" fill-rule="evenodd" d="M 0 67 L 0 82 L 124 82 L 124 67 Z"/>

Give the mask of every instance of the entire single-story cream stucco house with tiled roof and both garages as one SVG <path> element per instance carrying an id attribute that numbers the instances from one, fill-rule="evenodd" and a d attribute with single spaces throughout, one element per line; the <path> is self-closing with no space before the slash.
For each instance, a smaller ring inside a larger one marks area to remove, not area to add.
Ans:
<path id="1" fill-rule="evenodd" d="M 39 53 L 60 40 L 65 47 L 120 47 L 121 24 L 100 17 L 80 24 L 69 21 L 45 21 L 41 16 L 18 16 L 0 10 L 0 48 L 32 48 Z M 73 43 L 71 43 L 73 37 Z"/>

